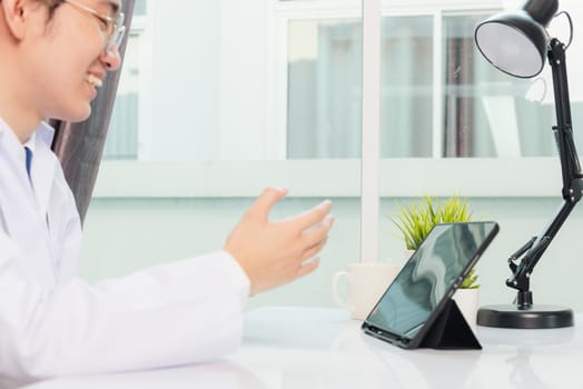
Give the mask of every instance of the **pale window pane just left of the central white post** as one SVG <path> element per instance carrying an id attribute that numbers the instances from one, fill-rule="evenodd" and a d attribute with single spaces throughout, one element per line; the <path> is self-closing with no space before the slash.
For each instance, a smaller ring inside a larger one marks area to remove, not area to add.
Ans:
<path id="1" fill-rule="evenodd" d="M 362 26 L 288 24 L 287 158 L 360 156 Z"/>

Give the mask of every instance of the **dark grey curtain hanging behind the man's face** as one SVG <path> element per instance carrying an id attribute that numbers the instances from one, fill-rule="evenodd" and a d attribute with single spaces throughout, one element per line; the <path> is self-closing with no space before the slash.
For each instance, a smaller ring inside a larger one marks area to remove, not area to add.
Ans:
<path id="1" fill-rule="evenodd" d="M 122 2 L 122 12 L 126 14 L 126 37 L 119 49 L 121 63 L 123 63 L 128 31 L 131 26 L 134 3 L 135 0 L 123 0 Z M 88 120 L 79 123 L 60 120 L 49 121 L 56 129 L 52 150 L 61 161 L 65 177 L 75 194 L 81 222 L 85 220 L 89 208 L 99 171 L 120 73 L 120 71 L 108 73 L 98 97 L 91 102 L 92 113 Z"/>

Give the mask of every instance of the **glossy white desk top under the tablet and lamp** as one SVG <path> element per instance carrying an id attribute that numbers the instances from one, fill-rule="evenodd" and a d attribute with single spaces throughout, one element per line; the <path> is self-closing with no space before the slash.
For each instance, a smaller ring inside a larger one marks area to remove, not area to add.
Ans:
<path id="1" fill-rule="evenodd" d="M 216 363 L 29 388 L 583 388 L 582 320 L 557 330 L 478 327 L 481 351 L 408 351 L 362 333 L 342 310 L 261 308 L 246 316 L 243 347 Z"/>

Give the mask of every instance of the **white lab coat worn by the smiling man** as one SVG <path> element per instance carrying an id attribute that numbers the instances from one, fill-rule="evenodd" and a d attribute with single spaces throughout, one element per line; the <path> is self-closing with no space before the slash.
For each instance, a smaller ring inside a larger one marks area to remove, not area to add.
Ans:
<path id="1" fill-rule="evenodd" d="M 216 358 L 240 342 L 249 281 L 218 251 L 95 286 L 76 278 L 79 215 L 36 131 L 26 153 L 0 118 L 0 387 Z"/>

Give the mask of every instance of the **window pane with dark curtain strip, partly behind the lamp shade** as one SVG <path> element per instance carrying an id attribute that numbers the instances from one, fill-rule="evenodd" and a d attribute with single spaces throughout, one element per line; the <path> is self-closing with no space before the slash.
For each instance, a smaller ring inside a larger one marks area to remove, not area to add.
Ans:
<path id="1" fill-rule="evenodd" d="M 443 156 L 553 156 L 553 106 L 527 100 L 533 81 L 495 69 L 476 48 L 474 29 L 486 17 L 444 18 Z"/>

